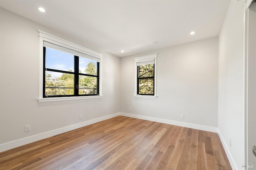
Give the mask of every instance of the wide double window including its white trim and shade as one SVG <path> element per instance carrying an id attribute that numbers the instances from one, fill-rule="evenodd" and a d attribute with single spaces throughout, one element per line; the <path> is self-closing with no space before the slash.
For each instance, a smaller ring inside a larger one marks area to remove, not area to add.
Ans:
<path id="1" fill-rule="evenodd" d="M 39 33 L 39 102 L 99 98 L 102 54 L 43 31 Z"/>

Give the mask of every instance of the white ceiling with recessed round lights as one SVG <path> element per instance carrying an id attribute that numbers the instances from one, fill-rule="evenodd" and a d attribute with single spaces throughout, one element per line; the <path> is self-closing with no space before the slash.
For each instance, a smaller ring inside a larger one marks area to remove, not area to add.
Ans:
<path id="1" fill-rule="evenodd" d="M 0 0 L 0 7 L 124 57 L 218 36 L 229 2 Z M 39 12 L 38 7 L 44 7 L 46 12 Z M 196 34 L 190 35 L 191 31 Z"/>

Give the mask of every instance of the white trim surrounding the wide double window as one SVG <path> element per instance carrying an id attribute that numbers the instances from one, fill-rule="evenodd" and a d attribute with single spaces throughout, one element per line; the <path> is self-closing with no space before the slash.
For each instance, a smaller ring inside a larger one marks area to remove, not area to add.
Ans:
<path id="1" fill-rule="evenodd" d="M 44 31 L 38 30 L 39 32 L 39 97 L 37 98 L 38 102 L 55 102 L 55 101 L 64 101 L 64 100 L 82 100 L 82 99 L 95 99 L 102 98 L 102 53 L 98 53 L 97 51 L 93 51 L 86 47 L 82 47 L 81 45 L 77 45 L 60 37 L 56 37 Z M 86 55 L 90 55 L 92 57 L 96 57 L 100 59 L 100 75 L 99 75 L 99 96 L 71 96 L 71 97 L 56 97 L 56 98 L 43 98 L 43 64 L 44 64 L 44 51 L 43 45 L 44 41 L 48 41 L 50 43 L 54 43 L 69 49 L 73 49 L 75 51 L 84 53 Z"/>

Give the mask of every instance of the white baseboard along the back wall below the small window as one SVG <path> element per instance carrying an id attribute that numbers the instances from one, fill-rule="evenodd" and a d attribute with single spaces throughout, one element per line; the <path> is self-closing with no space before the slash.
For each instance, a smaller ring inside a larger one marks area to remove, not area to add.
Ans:
<path id="1" fill-rule="evenodd" d="M 196 125 L 196 124 L 192 124 L 192 123 L 185 123 L 185 122 L 180 122 L 180 121 L 160 119 L 160 118 L 156 118 L 156 117 L 149 117 L 149 116 L 142 116 L 142 115 L 134 115 L 134 114 L 130 114 L 130 113 L 120 113 L 120 115 L 127 116 L 127 117 L 133 117 L 133 118 L 137 118 L 137 119 L 156 121 L 156 122 L 159 122 L 159 123 L 166 123 L 166 124 L 170 124 L 170 125 L 188 127 L 188 128 L 198 129 L 198 130 L 202 130 L 202 131 L 209 131 L 209 132 L 218 133 L 218 128 L 217 127 Z"/>

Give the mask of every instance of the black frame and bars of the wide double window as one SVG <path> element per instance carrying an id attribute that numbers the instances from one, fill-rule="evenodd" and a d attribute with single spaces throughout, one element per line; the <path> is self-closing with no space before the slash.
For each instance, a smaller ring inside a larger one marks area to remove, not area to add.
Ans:
<path id="1" fill-rule="evenodd" d="M 58 98 L 58 97 L 73 97 L 73 96 L 99 96 L 99 80 L 100 80 L 100 63 L 97 62 L 97 75 L 92 74 L 84 74 L 79 73 L 79 56 L 74 55 L 74 72 L 64 71 L 64 70 L 56 70 L 51 68 L 46 68 L 46 47 L 43 47 L 43 98 Z M 74 74 L 74 94 L 73 95 L 45 95 L 45 72 L 53 71 L 53 72 L 61 72 L 67 74 Z M 82 76 L 90 76 L 97 78 L 97 94 L 79 94 L 79 75 Z"/>

